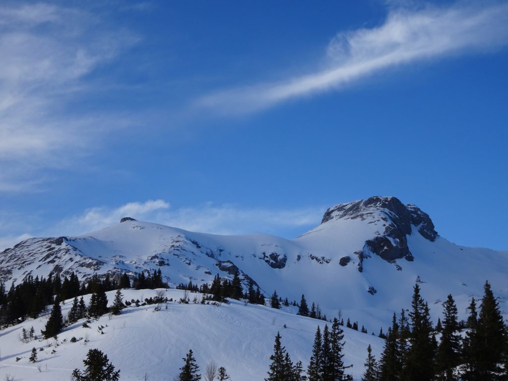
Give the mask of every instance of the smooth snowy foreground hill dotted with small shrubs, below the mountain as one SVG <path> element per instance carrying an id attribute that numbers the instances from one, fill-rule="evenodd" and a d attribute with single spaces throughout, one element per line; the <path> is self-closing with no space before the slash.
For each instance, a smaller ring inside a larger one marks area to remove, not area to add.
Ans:
<path id="1" fill-rule="evenodd" d="M 110 303 L 114 293 L 107 293 Z M 125 299 L 143 300 L 155 296 L 156 290 L 122 290 L 122 293 Z M 171 289 L 166 296 L 179 300 L 183 293 Z M 294 311 L 290 313 L 295 307 L 277 310 L 239 301 L 220 306 L 202 305 L 192 303 L 194 296 L 201 298 L 201 294 L 191 293 L 190 304 L 168 302 L 160 311 L 154 311 L 154 305 L 133 305 L 120 315 L 103 315 L 92 321 L 90 328 L 82 327 L 84 320 L 81 320 L 64 329 L 57 340 L 36 339 L 26 343 L 20 340 L 23 328 L 28 331 L 34 327 L 40 335 L 48 314 L 11 326 L 0 331 L 0 377 L 11 375 L 18 381 L 68 381 L 73 369 L 83 368 L 82 360 L 88 350 L 99 348 L 120 369 L 121 380 L 143 380 L 145 375 L 149 381 L 172 380 L 178 376 L 182 358 L 192 349 L 202 374 L 207 363 L 215 361 L 218 366 L 226 367 L 233 380 L 260 381 L 266 377 L 278 331 L 292 360 L 301 360 L 306 368 L 315 330 L 318 325 L 321 329 L 325 325 L 323 321 L 298 316 Z M 85 300 L 88 303 L 86 297 Z M 62 306 L 64 316 L 71 305 L 72 300 L 68 300 Z M 104 333 L 98 330 L 101 326 Z M 76 342 L 71 342 L 73 337 Z M 344 339 L 344 362 L 353 364 L 348 370 L 355 380 L 360 379 L 367 345 L 379 357 L 384 340 L 348 328 L 344 328 Z M 33 347 L 37 349 L 36 363 L 28 361 Z"/>

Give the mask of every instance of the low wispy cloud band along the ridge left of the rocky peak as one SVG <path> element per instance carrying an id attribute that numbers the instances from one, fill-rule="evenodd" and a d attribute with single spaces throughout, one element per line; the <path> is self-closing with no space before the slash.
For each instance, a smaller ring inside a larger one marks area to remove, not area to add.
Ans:
<path id="1" fill-rule="evenodd" d="M 124 204 L 118 208 L 93 207 L 51 226 L 46 224 L 42 229 L 37 228 L 41 226 L 40 218 L 31 228 L 23 220 L 15 231 L 0 236 L 0 251 L 33 236 L 86 234 L 118 224 L 122 217 L 211 234 L 280 234 L 281 231 L 294 229 L 300 229 L 300 234 L 318 225 L 322 214 L 323 208 L 320 207 L 267 209 L 206 203 L 196 207 L 172 208 L 167 201 L 148 200 Z M 12 225 L 14 219 L 14 216 L 0 216 L 0 227 L 6 228 L 4 232 L 8 231 L 8 225 Z M 26 233 L 21 234 L 19 231 Z"/>

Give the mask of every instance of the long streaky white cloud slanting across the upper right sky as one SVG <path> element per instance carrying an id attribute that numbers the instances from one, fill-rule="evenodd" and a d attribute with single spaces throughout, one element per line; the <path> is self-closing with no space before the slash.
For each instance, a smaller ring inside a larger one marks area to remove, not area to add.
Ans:
<path id="1" fill-rule="evenodd" d="M 508 4 L 458 2 L 448 8 L 390 7 L 377 27 L 339 33 L 314 72 L 275 83 L 229 88 L 197 101 L 221 114 L 245 114 L 365 78 L 384 69 L 508 44 Z M 325 67 L 323 69 L 323 67 Z"/>

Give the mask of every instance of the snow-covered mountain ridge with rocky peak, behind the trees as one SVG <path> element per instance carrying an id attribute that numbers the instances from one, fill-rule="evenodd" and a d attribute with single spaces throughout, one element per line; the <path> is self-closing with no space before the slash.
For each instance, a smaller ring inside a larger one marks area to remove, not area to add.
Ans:
<path id="1" fill-rule="evenodd" d="M 507 309 L 508 251 L 457 246 L 437 234 L 425 212 L 395 197 L 336 205 L 296 239 L 211 235 L 122 218 L 97 232 L 32 238 L 0 253 L 6 283 L 50 272 L 86 279 L 158 268 L 170 285 L 211 283 L 216 273 L 232 278 L 239 271 L 244 285 L 252 280 L 266 295 L 277 290 L 291 301 L 305 294 L 328 317 L 340 310 L 369 332 L 409 306 L 415 282 L 436 320 L 449 293 L 463 316 L 487 279 Z"/>

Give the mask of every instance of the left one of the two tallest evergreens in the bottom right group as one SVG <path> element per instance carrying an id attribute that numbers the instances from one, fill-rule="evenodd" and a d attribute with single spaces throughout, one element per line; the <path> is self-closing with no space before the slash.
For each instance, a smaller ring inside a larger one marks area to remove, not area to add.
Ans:
<path id="1" fill-rule="evenodd" d="M 429 306 L 421 297 L 418 284 L 414 287 L 409 317 L 411 320 L 410 348 L 404 361 L 401 377 L 412 381 L 430 381 L 434 377 L 435 355 L 432 322 Z"/>

